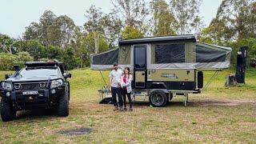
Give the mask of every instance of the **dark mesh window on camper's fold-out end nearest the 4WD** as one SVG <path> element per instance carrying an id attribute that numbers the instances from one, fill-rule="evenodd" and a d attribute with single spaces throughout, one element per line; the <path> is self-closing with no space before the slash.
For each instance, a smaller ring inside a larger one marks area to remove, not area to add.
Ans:
<path id="1" fill-rule="evenodd" d="M 119 49 L 113 50 L 104 54 L 94 55 L 93 64 L 94 65 L 113 65 L 118 63 L 118 52 Z"/>

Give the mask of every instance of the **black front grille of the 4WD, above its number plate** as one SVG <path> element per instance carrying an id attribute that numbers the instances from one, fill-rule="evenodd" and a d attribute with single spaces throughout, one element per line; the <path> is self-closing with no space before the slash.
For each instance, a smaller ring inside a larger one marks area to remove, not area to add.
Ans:
<path id="1" fill-rule="evenodd" d="M 14 83 L 14 90 L 43 90 L 46 86 L 47 82 Z"/>

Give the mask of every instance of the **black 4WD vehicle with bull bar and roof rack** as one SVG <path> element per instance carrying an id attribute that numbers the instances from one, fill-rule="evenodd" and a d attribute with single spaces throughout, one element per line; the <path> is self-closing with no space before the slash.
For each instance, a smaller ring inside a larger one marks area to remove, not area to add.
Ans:
<path id="1" fill-rule="evenodd" d="M 6 74 L 0 82 L 1 118 L 10 121 L 18 110 L 38 108 L 57 110 L 59 116 L 69 115 L 71 74 L 65 73 L 62 62 L 26 62 L 26 67 Z"/>

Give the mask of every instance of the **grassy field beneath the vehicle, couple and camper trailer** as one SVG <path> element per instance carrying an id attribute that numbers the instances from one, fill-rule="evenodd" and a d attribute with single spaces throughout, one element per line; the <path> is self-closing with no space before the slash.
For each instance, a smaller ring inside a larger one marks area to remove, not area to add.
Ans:
<path id="1" fill-rule="evenodd" d="M 220 72 L 202 94 L 191 94 L 183 106 L 178 96 L 164 108 L 136 102 L 133 112 L 114 112 L 99 105 L 104 82 L 98 71 L 72 70 L 70 116 L 50 111 L 20 112 L 12 122 L 0 121 L 0 143 L 256 143 L 256 70 L 246 84 L 225 87 Z M 0 79 L 4 74 L 0 72 Z M 213 72 L 205 73 L 205 82 Z M 107 78 L 108 72 L 103 72 Z M 63 130 L 91 128 L 90 134 L 67 135 Z"/>

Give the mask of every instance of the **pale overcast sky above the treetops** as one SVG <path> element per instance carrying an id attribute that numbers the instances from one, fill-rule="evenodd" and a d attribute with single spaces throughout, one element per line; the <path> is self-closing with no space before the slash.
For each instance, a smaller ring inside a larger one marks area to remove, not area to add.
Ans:
<path id="1" fill-rule="evenodd" d="M 216 15 L 221 2 L 202 1 L 200 12 L 206 26 Z M 77 26 L 82 26 L 86 20 L 86 10 L 91 5 L 101 7 L 105 13 L 109 13 L 112 8 L 110 0 L 0 0 L 0 33 L 13 38 L 22 36 L 25 27 L 30 22 L 38 22 L 45 10 L 52 10 L 57 16 L 66 14 Z"/>

